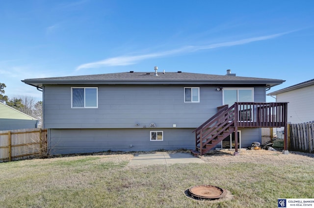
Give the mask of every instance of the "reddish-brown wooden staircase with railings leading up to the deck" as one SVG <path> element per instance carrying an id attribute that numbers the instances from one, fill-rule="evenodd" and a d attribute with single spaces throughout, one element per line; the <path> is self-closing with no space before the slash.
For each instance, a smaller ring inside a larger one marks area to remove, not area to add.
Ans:
<path id="1" fill-rule="evenodd" d="M 235 105 L 228 108 L 228 105 L 218 107 L 218 112 L 209 120 L 204 122 L 195 132 L 195 150 L 191 153 L 205 155 L 219 142 L 235 131 Z"/>

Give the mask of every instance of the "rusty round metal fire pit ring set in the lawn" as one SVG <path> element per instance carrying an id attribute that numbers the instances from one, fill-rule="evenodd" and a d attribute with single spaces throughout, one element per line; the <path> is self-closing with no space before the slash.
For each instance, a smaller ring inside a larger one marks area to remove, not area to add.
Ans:
<path id="1" fill-rule="evenodd" d="M 227 195 L 227 191 L 214 185 L 195 185 L 188 189 L 193 197 L 201 199 L 220 199 Z"/>

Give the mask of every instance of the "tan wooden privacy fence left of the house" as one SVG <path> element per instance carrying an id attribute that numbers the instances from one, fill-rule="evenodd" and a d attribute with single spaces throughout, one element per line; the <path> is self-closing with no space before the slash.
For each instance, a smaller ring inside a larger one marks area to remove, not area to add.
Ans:
<path id="1" fill-rule="evenodd" d="M 47 155 L 47 130 L 1 130 L 0 162 Z"/>

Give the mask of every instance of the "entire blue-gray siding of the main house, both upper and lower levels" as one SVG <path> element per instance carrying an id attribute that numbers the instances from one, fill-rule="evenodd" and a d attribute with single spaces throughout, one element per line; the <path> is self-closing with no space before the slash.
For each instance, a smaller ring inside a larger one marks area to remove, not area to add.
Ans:
<path id="1" fill-rule="evenodd" d="M 194 149 L 192 131 L 217 112 L 222 91 L 199 86 L 200 102 L 184 103 L 184 86 L 98 86 L 98 108 L 71 108 L 71 86 L 45 86 L 50 154 Z M 264 87 L 255 87 L 254 99 L 265 102 Z M 151 130 L 164 140 L 150 141 Z M 260 129 L 241 130 L 242 147 L 260 137 Z"/>

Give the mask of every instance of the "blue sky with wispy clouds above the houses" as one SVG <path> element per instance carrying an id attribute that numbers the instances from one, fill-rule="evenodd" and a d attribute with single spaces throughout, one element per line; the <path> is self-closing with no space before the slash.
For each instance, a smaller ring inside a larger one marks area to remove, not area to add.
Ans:
<path id="1" fill-rule="evenodd" d="M 159 71 L 314 78 L 313 0 L 2 0 L 0 82 Z M 267 96 L 267 102 L 275 100 Z"/>

